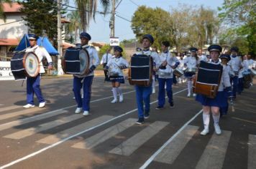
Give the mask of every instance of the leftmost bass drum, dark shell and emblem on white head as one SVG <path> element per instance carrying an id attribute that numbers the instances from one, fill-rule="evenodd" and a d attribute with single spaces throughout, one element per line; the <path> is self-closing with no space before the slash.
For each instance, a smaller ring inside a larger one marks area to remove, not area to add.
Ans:
<path id="1" fill-rule="evenodd" d="M 37 77 L 40 62 L 34 52 L 17 52 L 11 59 L 11 69 L 15 80 Z"/>

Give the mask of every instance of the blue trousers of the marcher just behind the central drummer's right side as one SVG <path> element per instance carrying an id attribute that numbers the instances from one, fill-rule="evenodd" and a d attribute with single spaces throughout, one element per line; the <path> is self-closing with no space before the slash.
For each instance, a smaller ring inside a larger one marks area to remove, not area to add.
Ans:
<path id="1" fill-rule="evenodd" d="M 170 79 L 164 79 L 159 78 L 158 79 L 158 105 L 163 107 L 165 105 L 165 83 L 166 83 L 166 92 L 168 96 L 168 102 L 173 102 L 173 78 Z"/>

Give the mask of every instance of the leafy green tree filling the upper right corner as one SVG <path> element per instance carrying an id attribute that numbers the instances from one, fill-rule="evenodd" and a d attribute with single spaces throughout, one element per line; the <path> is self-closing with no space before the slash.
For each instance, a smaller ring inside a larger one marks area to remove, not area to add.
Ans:
<path id="1" fill-rule="evenodd" d="M 219 7 L 219 18 L 227 25 L 227 33 L 232 32 L 234 40 L 243 39 L 247 52 L 256 54 L 256 2 L 252 0 L 224 0 Z"/>

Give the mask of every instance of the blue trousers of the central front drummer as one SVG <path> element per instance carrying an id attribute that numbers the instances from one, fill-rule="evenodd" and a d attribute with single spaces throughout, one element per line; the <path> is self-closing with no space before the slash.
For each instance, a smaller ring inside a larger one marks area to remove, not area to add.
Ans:
<path id="1" fill-rule="evenodd" d="M 150 95 L 152 93 L 152 86 L 149 87 L 140 87 L 135 85 L 136 90 L 136 100 L 138 107 L 138 117 L 144 117 L 145 114 L 150 112 Z M 145 110 L 144 110 L 145 105 Z"/>

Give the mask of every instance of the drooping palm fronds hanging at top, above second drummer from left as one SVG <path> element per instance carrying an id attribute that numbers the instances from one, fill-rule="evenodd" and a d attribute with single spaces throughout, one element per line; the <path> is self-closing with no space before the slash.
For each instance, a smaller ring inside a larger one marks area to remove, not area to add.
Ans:
<path id="1" fill-rule="evenodd" d="M 109 10 L 111 0 L 100 0 L 104 7 L 104 14 Z M 78 6 L 79 16 L 81 18 L 82 29 L 85 32 L 88 28 L 90 20 L 95 19 L 98 0 L 76 0 Z"/>

